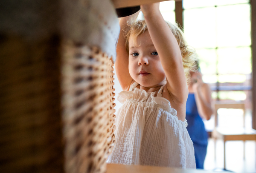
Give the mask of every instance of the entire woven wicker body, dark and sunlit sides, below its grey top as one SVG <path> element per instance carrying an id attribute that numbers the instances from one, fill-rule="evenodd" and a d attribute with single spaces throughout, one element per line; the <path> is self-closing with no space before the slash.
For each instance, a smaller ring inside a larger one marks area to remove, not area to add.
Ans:
<path id="1" fill-rule="evenodd" d="M 113 60 L 56 36 L 0 45 L 1 173 L 105 172 L 115 141 Z"/>

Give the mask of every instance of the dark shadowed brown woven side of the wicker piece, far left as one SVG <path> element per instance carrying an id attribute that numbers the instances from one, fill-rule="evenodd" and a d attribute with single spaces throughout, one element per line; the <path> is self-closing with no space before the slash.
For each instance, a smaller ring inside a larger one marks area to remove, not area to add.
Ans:
<path id="1" fill-rule="evenodd" d="M 1 35 L 1 173 L 64 172 L 59 46 Z"/>

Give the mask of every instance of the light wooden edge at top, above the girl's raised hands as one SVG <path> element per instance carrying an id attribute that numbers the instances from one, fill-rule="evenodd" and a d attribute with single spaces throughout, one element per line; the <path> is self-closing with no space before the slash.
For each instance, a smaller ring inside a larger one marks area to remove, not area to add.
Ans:
<path id="1" fill-rule="evenodd" d="M 145 3 L 158 3 L 161 1 L 167 1 L 167 0 L 112 0 L 114 7 L 116 9 L 131 7 L 131 6 L 139 6 L 140 4 L 145 4 Z M 178 1 L 181 1 L 181 0 L 178 0 Z"/>

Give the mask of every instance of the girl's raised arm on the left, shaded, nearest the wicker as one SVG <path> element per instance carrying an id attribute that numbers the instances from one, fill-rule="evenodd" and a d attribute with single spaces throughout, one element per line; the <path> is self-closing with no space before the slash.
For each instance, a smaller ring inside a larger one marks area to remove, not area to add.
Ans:
<path id="1" fill-rule="evenodd" d="M 119 21 L 121 30 L 120 30 L 119 39 L 116 45 L 115 70 L 116 70 L 116 76 L 119 80 L 119 83 L 123 91 L 128 91 L 129 86 L 133 81 L 133 79 L 131 78 L 131 75 L 129 74 L 129 68 L 128 68 L 129 54 L 125 48 L 124 28 L 128 26 L 127 22 L 129 23 L 135 20 L 138 14 L 139 12 L 131 16 L 122 17 L 121 20 Z"/>

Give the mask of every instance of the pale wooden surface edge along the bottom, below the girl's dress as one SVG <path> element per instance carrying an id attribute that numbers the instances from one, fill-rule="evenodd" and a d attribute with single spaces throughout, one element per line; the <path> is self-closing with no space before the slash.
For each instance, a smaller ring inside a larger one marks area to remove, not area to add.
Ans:
<path id="1" fill-rule="evenodd" d="M 153 167 L 140 165 L 107 164 L 106 173 L 217 173 L 209 170 L 180 169 L 174 167 Z M 218 171 L 227 173 L 227 171 Z"/>

